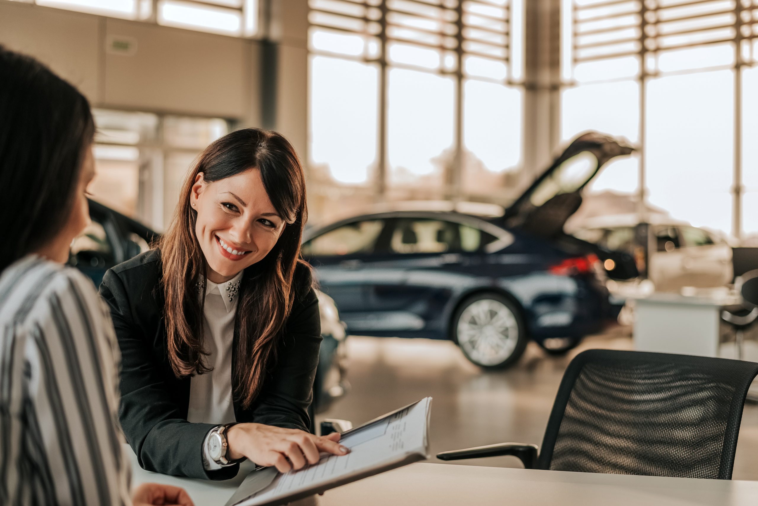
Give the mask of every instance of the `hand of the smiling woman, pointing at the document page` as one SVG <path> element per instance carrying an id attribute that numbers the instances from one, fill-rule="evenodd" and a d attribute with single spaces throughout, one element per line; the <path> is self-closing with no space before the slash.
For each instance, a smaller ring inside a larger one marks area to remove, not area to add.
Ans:
<path id="1" fill-rule="evenodd" d="M 349 450 L 337 442 L 339 433 L 314 436 L 303 430 L 282 429 L 261 423 L 237 423 L 227 430 L 229 458 L 247 457 L 259 466 L 275 466 L 280 473 L 316 464 L 318 454 L 344 455 Z"/>

